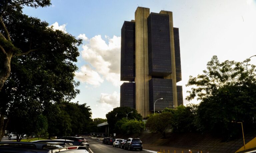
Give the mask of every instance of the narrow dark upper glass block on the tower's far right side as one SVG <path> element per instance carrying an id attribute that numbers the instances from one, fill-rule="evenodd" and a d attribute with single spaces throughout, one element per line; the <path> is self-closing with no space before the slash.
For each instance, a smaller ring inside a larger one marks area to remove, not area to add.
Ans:
<path id="1" fill-rule="evenodd" d="M 176 82 L 179 82 L 181 81 L 179 28 L 173 28 L 173 34 L 174 34 L 174 47 L 175 47 Z"/>

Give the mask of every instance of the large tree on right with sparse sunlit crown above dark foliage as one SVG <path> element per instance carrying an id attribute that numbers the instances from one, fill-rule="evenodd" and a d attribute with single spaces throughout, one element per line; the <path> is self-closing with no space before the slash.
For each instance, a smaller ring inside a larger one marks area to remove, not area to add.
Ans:
<path id="1" fill-rule="evenodd" d="M 256 113 L 255 66 L 246 71 L 246 62 L 219 62 L 213 56 L 207 63 L 207 70 L 197 77 L 190 76 L 186 86 L 192 88 L 186 97 L 197 97 L 198 119 L 202 130 L 211 131 L 229 140 L 238 135 L 237 124 L 243 122 L 245 129 L 253 129 Z M 250 74 L 250 75 L 249 75 Z"/>

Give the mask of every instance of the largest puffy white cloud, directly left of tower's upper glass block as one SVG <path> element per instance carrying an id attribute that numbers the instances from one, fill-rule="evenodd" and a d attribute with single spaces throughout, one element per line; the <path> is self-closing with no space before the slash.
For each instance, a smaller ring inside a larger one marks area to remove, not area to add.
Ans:
<path id="1" fill-rule="evenodd" d="M 80 34 L 78 37 L 84 40 L 88 39 L 85 34 Z M 103 79 L 111 82 L 114 86 L 120 86 L 122 84 L 120 81 L 121 37 L 105 36 L 105 38 L 107 43 L 101 35 L 91 38 L 87 44 L 82 46 L 82 58 Z M 89 83 L 87 80 L 86 82 Z"/>

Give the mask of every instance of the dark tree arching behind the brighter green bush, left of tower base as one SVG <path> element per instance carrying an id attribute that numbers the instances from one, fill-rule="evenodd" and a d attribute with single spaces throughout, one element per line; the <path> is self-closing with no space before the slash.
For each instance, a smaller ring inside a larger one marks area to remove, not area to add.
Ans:
<path id="1" fill-rule="evenodd" d="M 128 116 L 127 113 L 129 113 Z M 123 117 L 126 118 L 126 116 L 128 119 L 136 119 L 142 121 L 142 116 L 137 112 L 136 109 L 131 107 L 116 107 L 111 112 L 108 112 L 106 114 L 110 133 L 112 133 L 115 130 L 116 122 L 121 120 Z"/>

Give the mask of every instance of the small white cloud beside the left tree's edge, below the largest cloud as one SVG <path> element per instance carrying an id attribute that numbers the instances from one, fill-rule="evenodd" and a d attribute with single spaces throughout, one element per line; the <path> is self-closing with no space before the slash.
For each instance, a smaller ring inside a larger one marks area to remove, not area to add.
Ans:
<path id="1" fill-rule="evenodd" d="M 104 81 L 99 73 L 92 70 L 89 65 L 82 66 L 80 72 L 75 72 L 75 75 L 81 82 L 87 82 L 95 87 L 99 86 Z"/>

